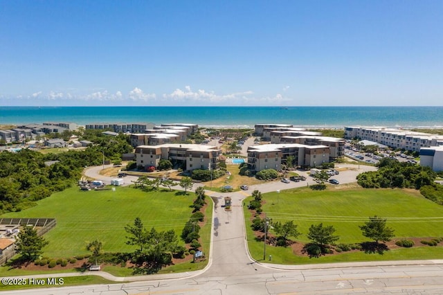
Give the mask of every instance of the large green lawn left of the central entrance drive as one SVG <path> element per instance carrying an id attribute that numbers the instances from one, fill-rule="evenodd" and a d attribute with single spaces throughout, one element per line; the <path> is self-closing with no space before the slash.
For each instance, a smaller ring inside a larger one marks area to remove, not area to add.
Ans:
<path id="1" fill-rule="evenodd" d="M 2 216 L 55 218 L 57 226 L 44 235 L 49 241 L 44 256 L 50 258 L 89 253 L 85 249 L 87 241 L 95 239 L 103 242 L 103 251 L 132 251 L 134 247 L 125 244 L 125 226 L 133 224 L 136 217 L 141 217 L 147 229 L 174 229 L 180 235 L 192 213 L 189 206 L 195 194 L 176 193 L 147 193 L 128 187 L 118 187 L 116 191 L 69 188 L 42 199 L 33 208 Z"/>

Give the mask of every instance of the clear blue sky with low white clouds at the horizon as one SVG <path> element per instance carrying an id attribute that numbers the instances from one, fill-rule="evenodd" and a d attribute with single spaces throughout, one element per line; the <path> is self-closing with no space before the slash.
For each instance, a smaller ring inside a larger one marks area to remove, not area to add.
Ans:
<path id="1" fill-rule="evenodd" d="M 0 0 L 0 105 L 443 105 L 443 1 Z"/>

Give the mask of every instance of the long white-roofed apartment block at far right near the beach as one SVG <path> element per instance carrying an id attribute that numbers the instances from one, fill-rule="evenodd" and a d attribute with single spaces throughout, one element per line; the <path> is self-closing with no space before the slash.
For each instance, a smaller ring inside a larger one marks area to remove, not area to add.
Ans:
<path id="1" fill-rule="evenodd" d="M 374 141 L 392 148 L 417 151 L 443 144 L 443 136 L 386 127 L 345 127 L 345 138 Z"/>

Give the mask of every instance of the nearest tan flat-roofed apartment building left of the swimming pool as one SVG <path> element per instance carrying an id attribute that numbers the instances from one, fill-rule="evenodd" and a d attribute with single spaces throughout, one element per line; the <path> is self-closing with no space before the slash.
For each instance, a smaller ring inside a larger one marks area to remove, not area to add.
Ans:
<path id="1" fill-rule="evenodd" d="M 161 159 L 186 163 L 186 170 L 216 169 L 221 150 L 210 145 L 168 143 L 136 147 L 137 166 L 159 166 Z"/>

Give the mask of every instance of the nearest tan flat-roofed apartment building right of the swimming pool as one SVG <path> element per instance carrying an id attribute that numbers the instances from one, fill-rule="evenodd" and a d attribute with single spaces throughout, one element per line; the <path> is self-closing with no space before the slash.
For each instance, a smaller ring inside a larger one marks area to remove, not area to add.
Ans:
<path id="1" fill-rule="evenodd" d="M 316 167 L 329 163 L 329 147 L 299 143 L 253 145 L 248 147 L 248 168 L 255 172 L 271 168 L 280 170 L 289 156 L 294 157 L 296 166 Z"/>

